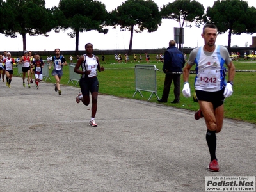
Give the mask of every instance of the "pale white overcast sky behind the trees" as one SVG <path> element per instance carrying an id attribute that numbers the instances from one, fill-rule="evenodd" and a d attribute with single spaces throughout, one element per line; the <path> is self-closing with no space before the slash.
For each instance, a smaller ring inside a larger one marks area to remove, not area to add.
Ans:
<path id="1" fill-rule="evenodd" d="M 123 0 L 100 0 L 106 5 L 106 9 L 111 11 L 118 6 L 120 6 L 124 1 Z M 204 5 L 206 9 L 208 6 L 214 4 L 214 0 L 196 0 Z M 155 0 L 156 4 L 163 6 L 168 4 L 169 0 Z M 255 0 L 247 0 L 249 6 L 255 6 Z M 47 8 L 52 8 L 53 6 L 58 6 L 59 0 L 45 0 L 45 6 Z M 250 16 L 248 16 L 250 17 Z M 134 33 L 132 41 L 132 49 L 157 49 L 168 47 L 169 40 L 174 39 L 173 28 L 178 28 L 179 22 L 175 22 L 170 19 L 163 19 L 161 26 L 157 29 L 156 32 L 148 33 L 143 31 L 143 33 Z M 26 46 L 28 50 L 31 51 L 52 51 L 55 48 L 60 48 L 61 50 L 74 50 L 75 49 L 75 38 L 70 38 L 67 35 L 67 32 L 54 33 L 51 31 L 49 37 L 42 35 L 38 36 L 29 36 L 26 35 Z M 202 27 L 196 28 L 184 28 L 184 47 L 196 47 L 204 44 L 204 40 L 200 36 L 202 33 Z M 118 29 L 109 28 L 109 32 L 104 35 L 98 33 L 97 31 L 87 31 L 79 34 L 79 50 L 84 50 L 84 45 L 88 42 L 93 44 L 95 49 L 128 49 L 129 40 L 130 40 L 130 31 L 120 31 Z M 238 45 L 239 47 L 244 47 L 246 42 L 248 45 L 252 44 L 252 36 L 256 36 L 256 33 L 252 35 L 232 35 L 231 46 Z M 1 44 L 0 51 L 22 51 L 22 36 L 18 35 L 17 38 L 5 37 L 0 35 Z M 218 45 L 227 45 L 228 44 L 228 34 L 218 35 L 216 40 Z"/>

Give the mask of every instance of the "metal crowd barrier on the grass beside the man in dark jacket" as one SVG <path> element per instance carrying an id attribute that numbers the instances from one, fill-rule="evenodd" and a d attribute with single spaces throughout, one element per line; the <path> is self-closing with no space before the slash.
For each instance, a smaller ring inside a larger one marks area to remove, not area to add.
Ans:
<path id="1" fill-rule="evenodd" d="M 149 99 L 151 99 L 152 95 L 155 94 L 157 99 L 157 85 L 156 85 L 156 65 L 135 65 L 135 93 L 139 92 L 141 97 L 141 91 L 152 92 Z"/>

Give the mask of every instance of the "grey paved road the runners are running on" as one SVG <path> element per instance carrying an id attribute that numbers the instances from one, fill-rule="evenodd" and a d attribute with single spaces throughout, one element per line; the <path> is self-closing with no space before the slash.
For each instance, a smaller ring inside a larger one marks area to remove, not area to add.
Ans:
<path id="1" fill-rule="evenodd" d="M 220 172 L 209 172 L 204 119 L 191 111 L 99 95 L 90 127 L 78 88 L 11 85 L 0 82 L 0 191 L 205 191 L 205 176 L 256 175 L 253 124 L 225 119 Z"/>

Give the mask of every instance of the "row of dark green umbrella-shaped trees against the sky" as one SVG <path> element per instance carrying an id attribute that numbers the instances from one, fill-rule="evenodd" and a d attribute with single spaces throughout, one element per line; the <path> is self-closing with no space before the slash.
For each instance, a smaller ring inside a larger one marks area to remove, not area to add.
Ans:
<path id="1" fill-rule="evenodd" d="M 95 0 L 60 0 L 58 7 L 51 9 L 45 8 L 44 0 L 0 0 L 0 18 L 0 33 L 12 38 L 22 35 L 23 49 L 26 49 L 26 34 L 48 36 L 51 30 L 58 33 L 72 29 L 68 35 L 76 38 L 75 54 L 79 33 L 97 30 L 106 34 L 108 28 L 117 26 L 131 31 L 128 51 L 131 54 L 134 31 L 154 32 L 161 26 L 162 19 L 179 22 L 180 38 L 184 26 L 200 27 L 212 22 L 218 27 L 218 33 L 228 31 L 228 49 L 232 34 L 256 32 L 256 9 L 242 0 L 218 0 L 206 12 L 195 0 L 176 0 L 161 8 L 152 0 L 126 0 L 111 12 Z"/>

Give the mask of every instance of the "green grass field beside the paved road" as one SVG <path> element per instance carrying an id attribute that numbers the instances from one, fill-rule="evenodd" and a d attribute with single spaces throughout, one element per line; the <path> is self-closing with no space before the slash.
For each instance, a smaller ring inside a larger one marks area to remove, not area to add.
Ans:
<path id="1" fill-rule="evenodd" d="M 105 95 L 114 95 L 116 97 L 125 97 L 129 99 L 138 99 L 138 100 L 148 100 L 150 97 L 150 92 L 141 92 L 143 97 L 139 93 L 136 93 L 134 97 L 132 95 L 135 92 L 135 74 L 134 66 L 137 64 L 148 64 L 145 61 L 145 56 L 143 56 L 144 61 L 141 63 L 133 63 L 133 57 L 130 56 L 132 63 L 116 63 L 114 56 L 105 56 L 105 63 L 102 63 L 101 56 L 100 65 L 105 67 L 104 72 L 98 73 L 99 79 L 99 92 Z M 67 61 L 69 61 L 69 56 L 65 56 Z M 138 58 L 138 57 L 137 57 Z M 163 63 L 156 62 L 156 55 L 151 55 L 150 65 L 156 65 L 161 72 L 157 71 L 156 81 L 157 81 L 157 95 L 161 98 L 163 92 L 163 83 L 164 83 L 164 73 L 162 72 Z M 43 57 L 43 59 L 46 59 Z M 76 60 L 74 60 L 76 61 Z M 112 64 L 111 64 L 112 63 Z M 113 64 L 115 63 L 115 64 Z M 236 70 L 255 70 L 256 71 L 256 60 L 239 60 L 234 61 Z M 17 70 L 17 68 L 15 68 Z M 63 77 L 61 79 L 61 84 L 67 85 L 69 80 L 69 69 L 68 67 L 63 68 Z M 17 74 L 17 72 L 14 72 Z M 234 120 L 242 120 L 244 122 L 250 122 L 256 124 L 256 73 L 255 72 L 236 72 L 234 79 L 234 93 L 231 97 L 228 97 L 225 100 L 225 118 L 232 118 Z M 191 88 L 191 93 L 193 93 L 193 81 L 195 74 L 190 74 L 189 84 Z M 54 83 L 54 78 L 52 83 Z M 47 82 L 50 82 L 47 80 Z M 68 85 L 72 86 L 71 83 Z M 79 85 L 78 85 L 79 86 Z M 181 84 L 182 89 L 182 84 Z M 72 98 L 73 99 L 73 98 Z M 192 97 L 185 98 L 182 93 L 180 95 L 179 104 L 171 104 L 170 101 L 174 99 L 173 96 L 173 84 L 170 90 L 170 96 L 168 103 L 164 103 L 166 106 L 174 106 L 175 108 L 183 108 L 191 111 L 196 111 L 198 109 L 198 103 L 193 102 Z M 155 95 L 149 100 L 149 102 L 157 102 L 157 97 Z M 158 103 L 158 102 L 157 102 Z"/>

